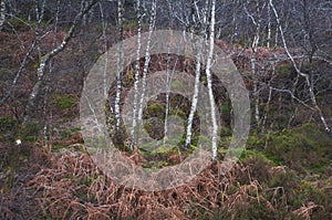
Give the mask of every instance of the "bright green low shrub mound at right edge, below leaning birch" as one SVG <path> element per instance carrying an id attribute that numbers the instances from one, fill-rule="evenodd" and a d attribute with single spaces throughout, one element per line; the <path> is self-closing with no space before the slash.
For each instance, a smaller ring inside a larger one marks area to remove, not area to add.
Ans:
<path id="1" fill-rule="evenodd" d="M 304 124 L 270 135 L 264 154 L 271 160 L 298 171 L 309 169 L 323 172 L 332 163 L 332 140 L 329 134 L 320 130 L 317 125 Z"/>

